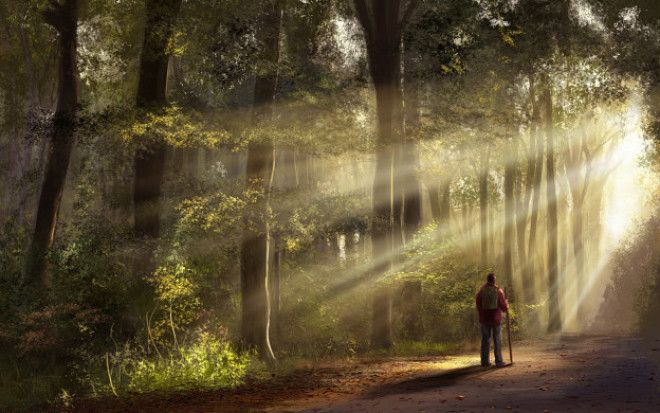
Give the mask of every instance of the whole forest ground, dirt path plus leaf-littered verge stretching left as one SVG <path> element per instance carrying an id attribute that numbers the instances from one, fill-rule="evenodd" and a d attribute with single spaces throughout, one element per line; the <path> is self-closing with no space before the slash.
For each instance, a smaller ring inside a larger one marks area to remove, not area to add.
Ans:
<path id="1" fill-rule="evenodd" d="M 660 340 L 564 336 L 515 343 L 506 368 L 478 364 L 476 353 L 331 363 L 233 390 L 107 399 L 75 411 L 660 411 Z"/>

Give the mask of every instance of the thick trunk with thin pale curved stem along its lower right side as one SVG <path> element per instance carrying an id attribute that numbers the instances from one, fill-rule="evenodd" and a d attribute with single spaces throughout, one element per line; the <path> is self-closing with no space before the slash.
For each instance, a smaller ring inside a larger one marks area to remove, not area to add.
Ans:
<path id="1" fill-rule="evenodd" d="M 277 86 L 280 57 L 282 2 L 266 2 L 257 32 L 260 46 L 254 89 L 255 123 L 272 116 L 272 104 Z M 241 242 L 241 337 L 243 343 L 256 348 L 269 361 L 275 356 L 270 345 L 271 297 L 271 235 L 266 222 L 268 198 L 274 166 L 274 147 L 270 140 L 253 141 L 248 145 L 246 189 L 261 194 L 256 201 L 252 219 L 246 218 Z"/>

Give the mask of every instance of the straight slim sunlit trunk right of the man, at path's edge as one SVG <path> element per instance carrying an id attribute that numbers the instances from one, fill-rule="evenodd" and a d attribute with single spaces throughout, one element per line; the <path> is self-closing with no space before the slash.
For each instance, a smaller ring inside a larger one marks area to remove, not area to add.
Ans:
<path id="1" fill-rule="evenodd" d="M 561 315 L 559 307 L 559 268 L 557 252 L 557 194 L 555 187 L 555 149 L 554 125 L 552 110 L 552 92 L 550 85 L 545 82 L 543 91 L 543 104 L 546 122 L 546 193 L 548 202 L 548 332 L 556 333 L 561 330 Z"/>

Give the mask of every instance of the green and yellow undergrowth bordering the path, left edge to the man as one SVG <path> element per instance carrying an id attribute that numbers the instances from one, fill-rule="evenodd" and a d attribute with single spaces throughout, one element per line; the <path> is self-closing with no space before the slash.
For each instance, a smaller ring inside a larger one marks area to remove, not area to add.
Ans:
<path id="1" fill-rule="evenodd" d="M 182 201 L 171 217 L 172 230 L 153 246 L 133 240 L 125 227 L 93 209 L 80 209 L 76 220 L 61 229 L 49 256 L 50 289 L 27 300 L 20 288 L 25 228 L 4 222 L 3 409 L 233 387 L 247 376 L 302 362 L 439 355 L 475 339 L 477 330 L 465 326 L 476 322 L 473 295 L 482 275 L 472 264 L 459 264 L 469 260 L 451 245 L 444 248 L 446 254 L 424 257 L 435 245 L 431 238 L 422 240 L 417 245 L 426 247 L 411 248 L 407 254 L 425 265 L 355 283 L 368 252 L 368 237 L 360 232 L 365 221 L 312 228 L 313 222 L 322 221 L 322 210 L 316 215 L 294 211 L 288 218 L 295 221 L 290 225 L 294 229 L 283 236 L 288 248 L 280 269 L 281 311 L 271 333 L 280 361 L 267 366 L 237 340 L 240 298 L 232 236 L 238 237 L 240 228 L 230 217 L 242 202 L 239 197 Z M 351 207 L 355 205 L 346 208 Z M 336 237 L 344 233 L 356 235 L 339 254 Z M 432 234 L 427 228 L 420 237 Z M 144 261 L 150 260 L 143 258 L 149 249 L 154 259 L 147 265 Z M 421 285 L 421 325 L 414 338 L 400 315 L 409 305 L 402 285 L 410 280 Z M 374 283 L 394 291 L 395 345 L 387 351 L 370 348 L 369 291 Z"/>

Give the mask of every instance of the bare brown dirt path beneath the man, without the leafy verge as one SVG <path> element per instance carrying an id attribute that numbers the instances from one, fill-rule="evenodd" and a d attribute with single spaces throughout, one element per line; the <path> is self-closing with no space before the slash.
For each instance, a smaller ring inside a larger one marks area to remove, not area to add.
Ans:
<path id="1" fill-rule="evenodd" d="M 515 364 L 463 367 L 308 412 L 660 412 L 660 341 L 573 338 L 520 348 Z"/>

